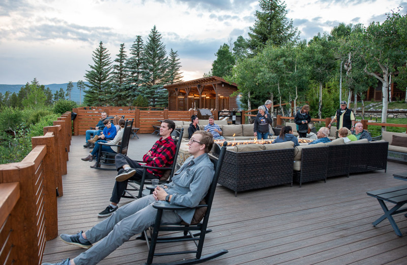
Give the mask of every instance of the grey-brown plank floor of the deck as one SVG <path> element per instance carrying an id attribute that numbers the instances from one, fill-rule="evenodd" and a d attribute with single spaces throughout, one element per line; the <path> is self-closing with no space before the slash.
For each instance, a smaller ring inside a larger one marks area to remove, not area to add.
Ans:
<path id="1" fill-rule="evenodd" d="M 129 156 L 138 160 L 158 137 L 139 135 L 130 140 Z M 72 138 L 68 174 L 63 176 L 64 196 L 58 199 L 59 233 L 76 233 L 103 220 L 97 214 L 109 202 L 115 171 L 91 169 L 93 162 L 80 158 L 84 136 Z M 373 154 L 372 154 L 373 155 Z M 272 162 L 271 162 L 272 163 Z M 206 264 L 407 264 L 407 218 L 394 219 L 403 237 L 387 220 L 371 223 L 383 211 L 367 191 L 407 184 L 392 174 L 407 165 L 388 163 L 382 171 L 329 178 L 293 187 L 280 186 L 238 193 L 218 186 L 203 254 L 227 249 L 229 253 Z M 119 205 L 128 203 L 123 199 Z M 189 243 L 192 244 L 192 243 Z M 180 243 L 160 248 L 188 248 Z M 43 261 L 61 261 L 84 251 L 63 243 L 59 237 L 46 243 Z M 147 247 L 134 237 L 100 264 L 140 264 Z M 156 262 L 176 256 L 155 258 Z"/>

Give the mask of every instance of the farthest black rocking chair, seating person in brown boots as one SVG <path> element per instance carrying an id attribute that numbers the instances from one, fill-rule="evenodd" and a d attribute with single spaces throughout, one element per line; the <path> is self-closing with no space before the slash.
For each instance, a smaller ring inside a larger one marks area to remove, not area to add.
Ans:
<path id="1" fill-rule="evenodd" d="M 98 152 L 98 160 L 97 160 L 97 165 L 98 167 L 95 167 L 96 169 L 103 169 L 103 170 L 115 170 L 115 167 L 109 167 L 109 168 L 102 168 L 102 165 L 106 166 L 115 166 L 114 164 L 114 157 L 118 153 L 122 153 L 124 155 L 127 154 L 127 147 L 129 146 L 129 141 L 130 141 L 130 135 L 131 135 L 131 130 L 133 127 L 133 121 L 126 120 L 126 123 L 124 125 L 124 131 L 123 131 L 123 137 L 120 145 L 108 145 L 107 143 L 98 143 L 100 145 L 105 145 L 105 146 L 117 146 L 118 147 L 118 152 L 106 152 L 102 151 L 102 148 L 99 148 Z M 103 160 L 103 162 L 101 162 Z"/>

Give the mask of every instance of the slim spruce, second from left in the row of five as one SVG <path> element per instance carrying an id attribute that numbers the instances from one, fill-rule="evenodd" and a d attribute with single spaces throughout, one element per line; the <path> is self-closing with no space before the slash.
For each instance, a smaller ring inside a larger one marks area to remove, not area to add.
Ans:
<path id="1" fill-rule="evenodd" d="M 126 68 L 125 63 L 127 60 L 126 50 L 124 43 L 120 44 L 119 54 L 116 55 L 117 58 L 114 59 L 116 64 L 113 65 L 113 75 L 112 75 L 112 103 L 121 106 L 128 104 L 125 82 L 126 82 Z"/>

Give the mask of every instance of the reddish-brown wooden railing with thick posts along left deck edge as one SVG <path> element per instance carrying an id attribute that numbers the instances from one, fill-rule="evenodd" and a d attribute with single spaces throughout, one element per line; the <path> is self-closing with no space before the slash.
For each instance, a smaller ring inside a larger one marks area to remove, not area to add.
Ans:
<path id="1" fill-rule="evenodd" d="M 57 236 L 71 132 L 68 112 L 32 138 L 20 163 L 0 165 L 0 264 L 40 264 L 45 242 Z"/>

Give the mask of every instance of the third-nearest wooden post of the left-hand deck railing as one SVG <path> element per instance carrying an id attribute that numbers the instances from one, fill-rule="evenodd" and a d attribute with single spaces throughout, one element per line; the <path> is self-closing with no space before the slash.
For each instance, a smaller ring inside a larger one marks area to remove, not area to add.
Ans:
<path id="1" fill-rule="evenodd" d="M 67 163 L 64 157 L 64 154 L 62 150 L 65 152 L 65 147 L 60 144 L 59 137 L 60 137 L 60 131 L 61 125 L 57 126 L 47 126 L 44 127 L 44 135 L 49 131 L 53 132 L 54 138 L 55 138 L 55 144 L 56 144 L 56 155 L 53 157 L 53 159 L 56 158 L 56 163 L 57 167 L 55 167 L 54 170 L 54 175 L 56 174 L 56 179 L 57 179 L 57 187 L 58 187 L 58 193 L 60 197 L 64 195 L 64 189 L 62 187 L 62 175 L 67 174 Z M 62 149 L 64 148 L 64 149 Z M 65 173 L 64 173 L 65 172 Z"/>

